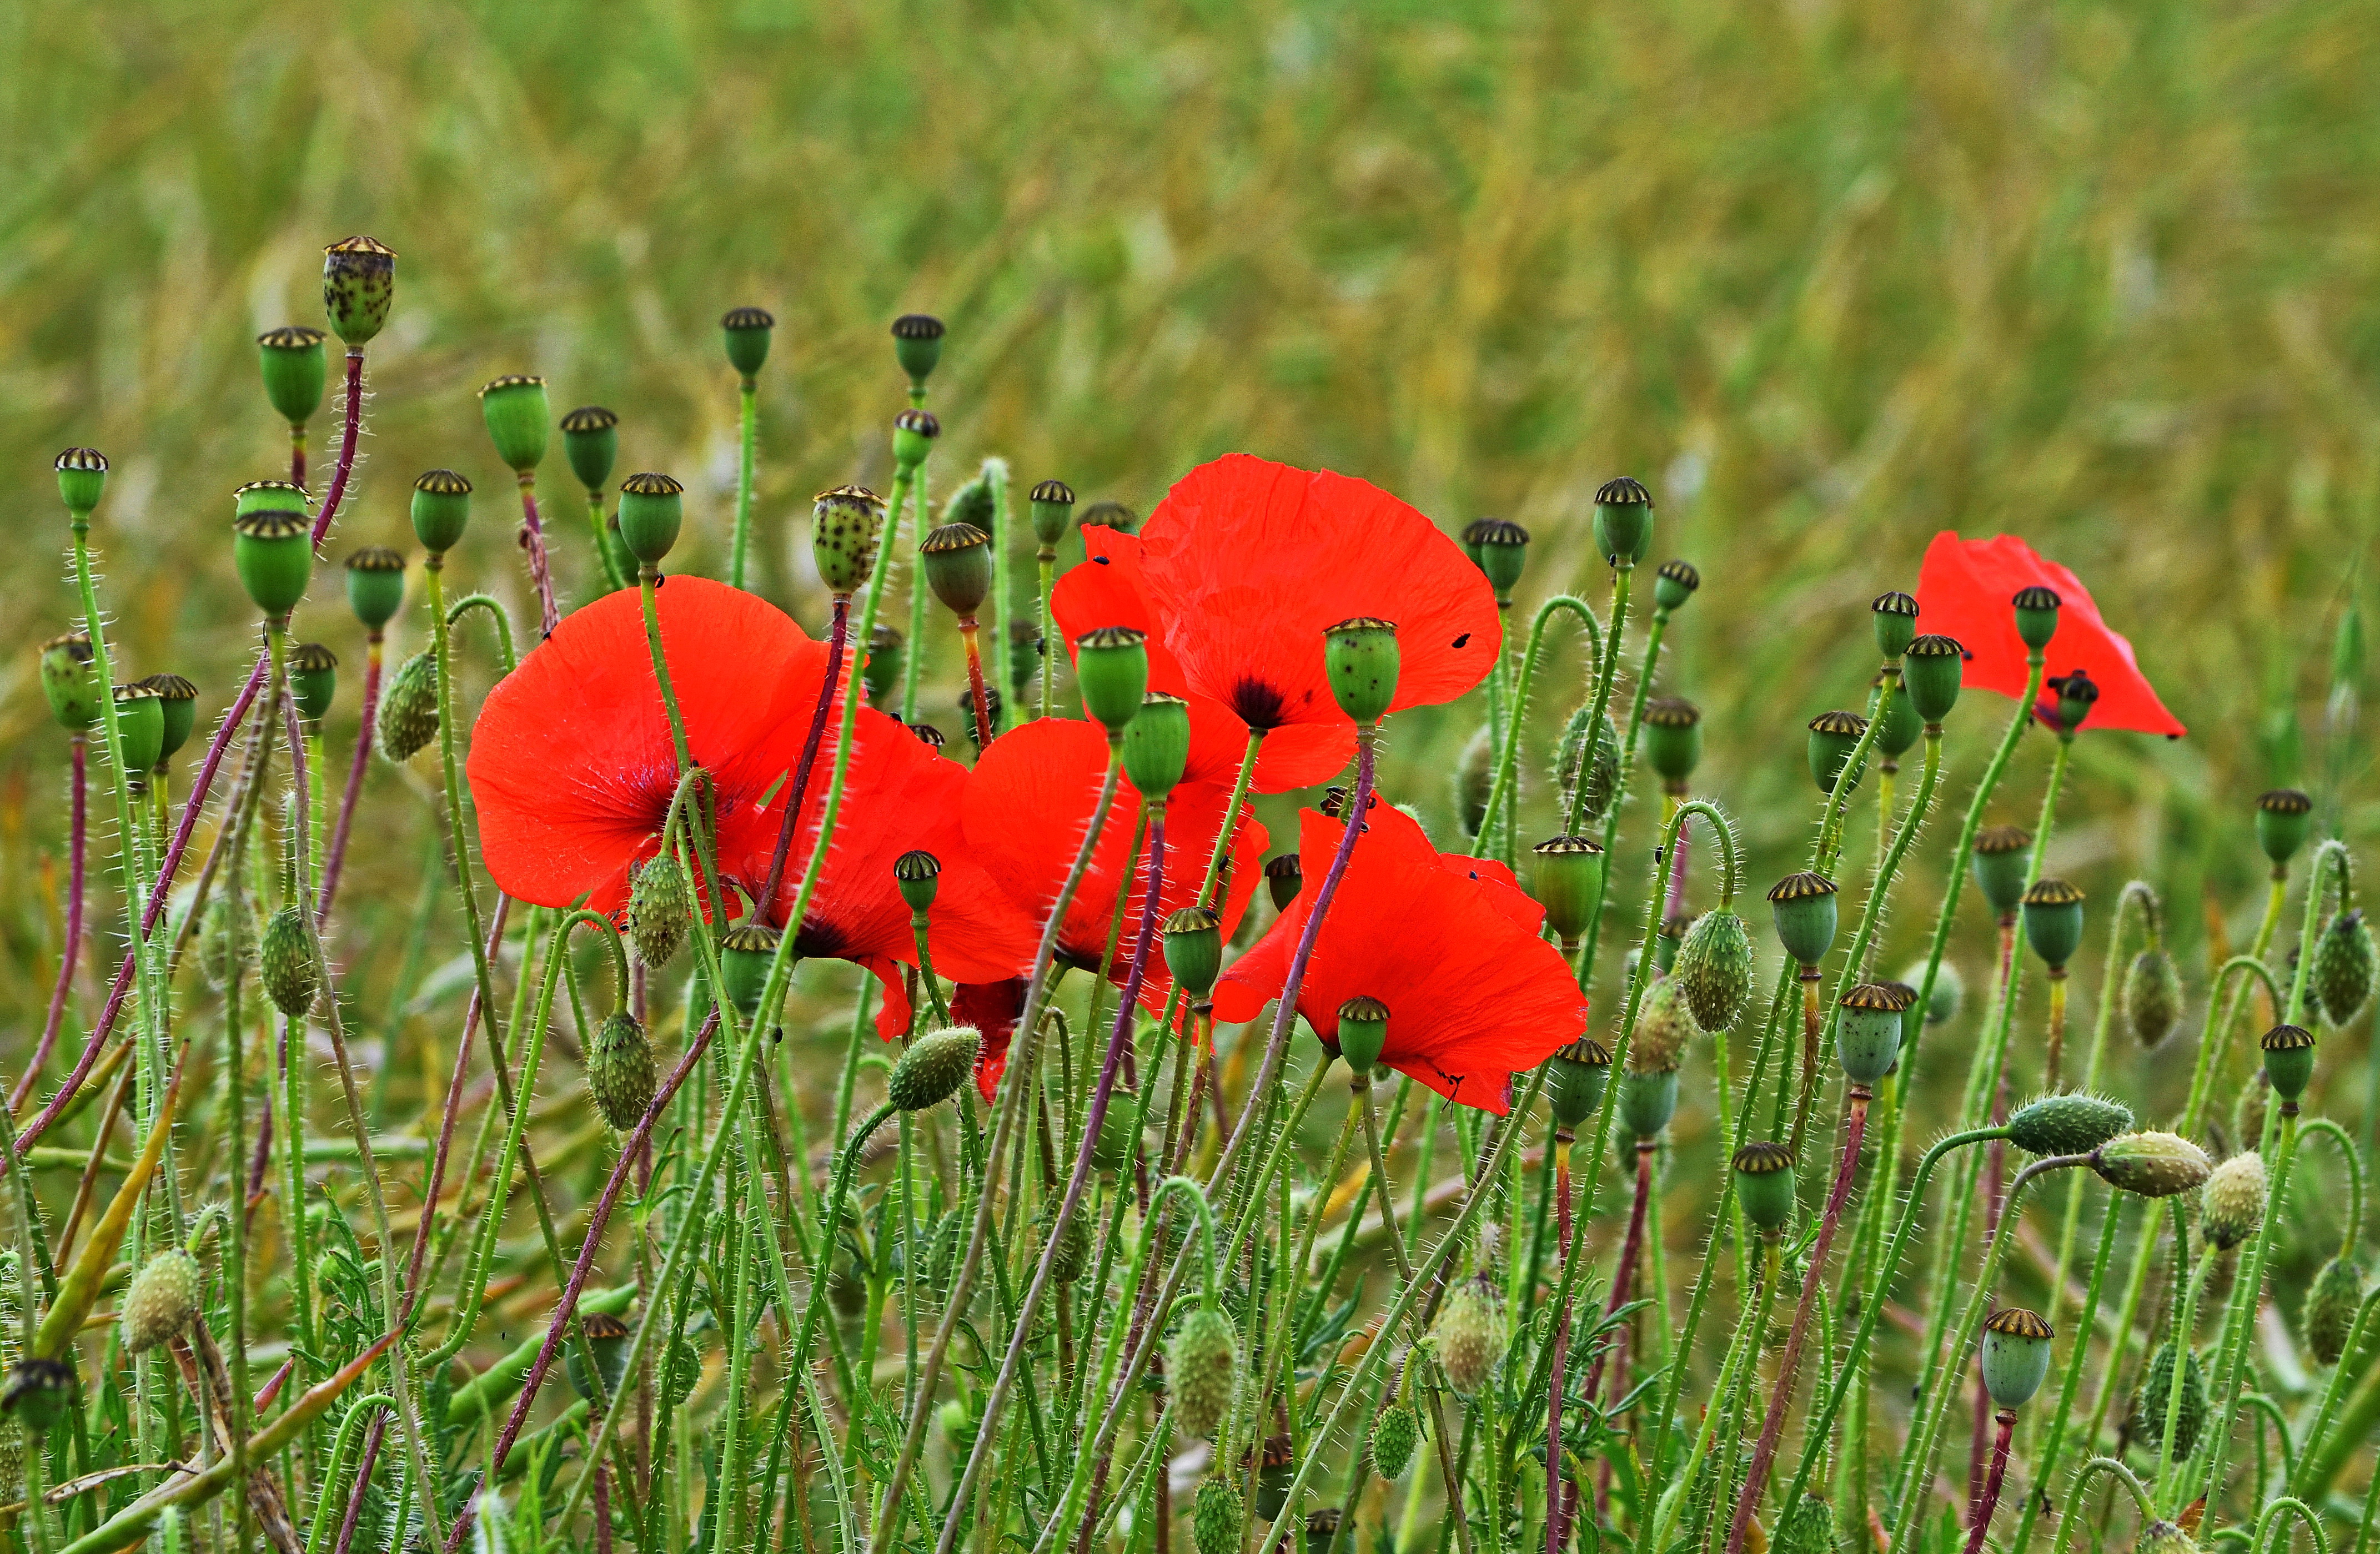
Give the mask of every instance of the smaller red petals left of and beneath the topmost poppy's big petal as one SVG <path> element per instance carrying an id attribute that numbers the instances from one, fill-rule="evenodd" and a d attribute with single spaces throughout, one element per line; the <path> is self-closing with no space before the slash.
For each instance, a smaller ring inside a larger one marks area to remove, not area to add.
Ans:
<path id="1" fill-rule="evenodd" d="M 1071 569 L 1050 590 L 1050 616 L 1066 638 L 1066 657 L 1073 657 L 1073 640 L 1100 626 L 1130 626 L 1150 633 L 1150 690 L 1164 690 L 1190 702 L 1190 781 L 1233 783 L 1240 762 L 1247 757 L 1247 723 L 1211 695 L 1190 690 L 1180 659 L 1166 647 L 1159 612 L 1150 602 L 1140 535 L 1128 535 L 1104 524 L 1083 526 L 1083 550 L 1088 559 Z M 1340 616 L 1345 619 L 1345 616 Z M 1288 792 L 1328 781 L 1354 759 L 1354 723 L 1338 719 L 1330 723 L 1290 723 L 1264 735 L 1257 750 L 1257 771 L 1250 785 L 1257 792 Z"/>

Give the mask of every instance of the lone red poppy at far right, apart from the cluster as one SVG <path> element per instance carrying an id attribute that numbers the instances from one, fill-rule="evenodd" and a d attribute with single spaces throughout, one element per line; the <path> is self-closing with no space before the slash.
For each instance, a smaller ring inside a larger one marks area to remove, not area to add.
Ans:
<path id="1" fill-rule="evenodd" d="M 2021 588 L 2047 588 L 2059 595 L 2059 631 L 2044 654 L 2052 676 L 2075 669 L 2099 685 L 2099 700 L 2085 719 L 2087 728 L 2130 728 L 2135 733 L 2190 733 L 2156 700 L 2156 688 L 2140 673 L 2132 645 L 2099 619 L 2082 578 L 2049 562 L 2016 535 L 1961 540 L 1942 531 L 1925 547 L 1918 571 L 1918 621 L 1923 631 L 1956 638 L 1966 647 L 1961 685 L 1980 685 L 1999 695 L 2025 693 L 2025 643 L 2016 635 L 2011 600 Z"/>

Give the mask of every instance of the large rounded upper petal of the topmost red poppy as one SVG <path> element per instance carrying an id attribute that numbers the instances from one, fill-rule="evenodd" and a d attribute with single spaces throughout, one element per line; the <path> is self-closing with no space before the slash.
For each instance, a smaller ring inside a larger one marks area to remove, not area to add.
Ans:
<path id="1" fill-rule="evenodd" d="M 1147 597 L 1183 683 L 1250 728 L 1345 723 L 1323 628 L 1397 624 L 1399 707 L 1452 702 L 1495 664 L 1502 621 L 1461 545 L 1378 485 L 1226 455 L 1176 481 L 1140 531 Z"/>

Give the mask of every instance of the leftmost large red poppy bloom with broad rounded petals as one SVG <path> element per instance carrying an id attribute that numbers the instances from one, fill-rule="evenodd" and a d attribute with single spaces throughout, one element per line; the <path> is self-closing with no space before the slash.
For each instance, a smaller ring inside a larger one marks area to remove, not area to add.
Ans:
<path id="1" fill-rule="evenodd" d="M 781 609 L 726 583 L 674 576 L 654 595 L 662 652 L 693 757 L 721 814 L 769 792 L 802 752 L 826 676 Z M 538 907 L 628 902 L 628 866 L 659 850 L 676 745 L 635 590 L 571 612 L 497 681 L 471 728 L 471 802 L 490 878 Z"/>

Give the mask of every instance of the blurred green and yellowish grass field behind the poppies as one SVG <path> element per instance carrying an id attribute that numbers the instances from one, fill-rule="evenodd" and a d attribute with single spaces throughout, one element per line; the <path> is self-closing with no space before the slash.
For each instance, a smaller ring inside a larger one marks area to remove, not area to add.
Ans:
<path id="1" fill-rule="evenodd" d="M 228 493 L 286 459 L 252 338 L 321 321 L 321 245 L 352 231 L 397 250 L 397 305 L 331 554 L 407 538 L 412 476 L 462 469 L 483 500 L 457 569 L 516 621 L 481 381 L 538 371 L 557 412 L 619 409 L 619 471 L 685 478 L 683 557 L 716 571 L 716 319 L 774 309 L 759 576 L 819 628 L 807 497 L 885 478 L 885 324 L 931 309 L 938 493 L 1000 452 L 1021 483 L 1145 512 L 1247 447 L 1449 528 L 1518 519 L 1523 602 L 1602 609 L 1587 495 L 1642 476 L 1654 559 L 1706 578 L 1661 681 L 1709 714 L 1699 788 L 1745 819 L 1754 890 L 1806 840 L 1802 723 L 1864 704 L 1864 604 L 1914 588 L 1940 528 L 2013 531 L 2080 571 L 2192 726 L 2082 735 L 2052 850 L 2102 904 L 2130 873 L 2166 888 L 2185 964 L 2206 902 L 2232 935 L 2261 904 L 2261 788 L 2328 804 L 2337 766 L 2347 828 L 2373 831 L 2361 745 L 2325 733 L 2380 521 L 2380 10 L 2356 0 L 112 0 L 5 7 L 0 48 L 10 1028 L 38 1019 L 57 940 L 64 740 L 33 683 L 69 612 L 50 457 L 114 459 L 98 533 L 124 654 L 195 678 L 205 728 L 250 652 Z M 336 388 L 317 469 L 333 433 Z M 543 490 L 585 597 L 559 440 Z M 359 666 L 319 595 L 300 635 Z M 416 635 L 407 616 L 393 652 Z M 945 638 L 928 707 L 957 735 Z M 1557 664 L 1547 735 L 1578 695 Z M 1395 731 L 1390 790 L 1449 845 L 1480 716 Z M 1952 807 L 2004 716 L 1959 709 Z M 2028 740 L 1994 819 L 2030 816 L 2044 754 Z M 412 900 L 419 792 L 376 764 L 364 914 Z M 1523 831 L 1547 831 L 1542 781 L 1528 804 Z M 1978 916 L 1971 966 L 1985 945 Z M 367 947 L 347 959 L 374 976 Z"/>

